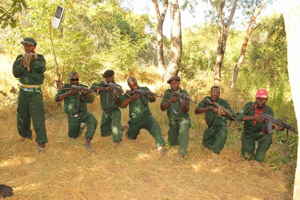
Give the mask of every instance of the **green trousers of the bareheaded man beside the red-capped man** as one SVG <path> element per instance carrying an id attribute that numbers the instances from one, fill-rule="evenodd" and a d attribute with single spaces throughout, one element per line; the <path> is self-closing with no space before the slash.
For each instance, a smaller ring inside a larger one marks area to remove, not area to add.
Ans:
<path id="1" fill-rule="evenodd" d="M 208 126 L 203 133 L 203 146 L 212 149 L 213 153 L 221 153 L 227 140 L 226 126 L 218 126 L 212 130 Z"/>

